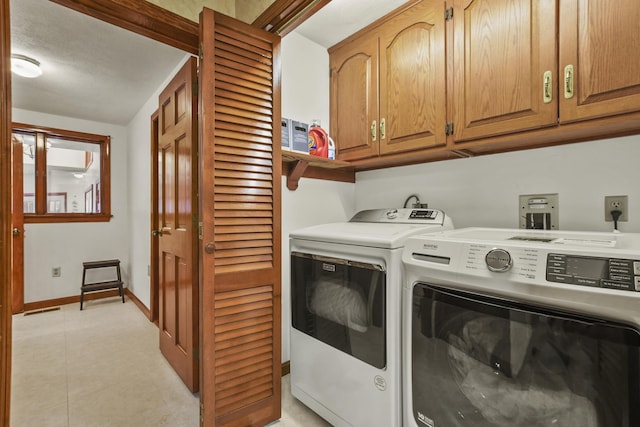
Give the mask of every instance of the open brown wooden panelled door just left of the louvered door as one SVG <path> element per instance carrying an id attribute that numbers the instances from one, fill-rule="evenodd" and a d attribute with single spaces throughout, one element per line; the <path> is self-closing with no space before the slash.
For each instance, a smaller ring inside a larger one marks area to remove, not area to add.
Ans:
<path id="1" fill-rule="evenodd" d="M 158 129 L 160 351 L 192 392 L 198 391 L 196 66 L 190 58 L 160 94 Z"/>

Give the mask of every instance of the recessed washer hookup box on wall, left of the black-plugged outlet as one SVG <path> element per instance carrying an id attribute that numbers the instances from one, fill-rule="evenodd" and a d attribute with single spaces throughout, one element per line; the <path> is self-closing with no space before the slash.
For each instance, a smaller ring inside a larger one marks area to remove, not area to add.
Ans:
<path id="1" fill-rule="evenodd" d="M 558 230 L 558 200 L 558 193 L 521 195 L 520 228 Z"/>

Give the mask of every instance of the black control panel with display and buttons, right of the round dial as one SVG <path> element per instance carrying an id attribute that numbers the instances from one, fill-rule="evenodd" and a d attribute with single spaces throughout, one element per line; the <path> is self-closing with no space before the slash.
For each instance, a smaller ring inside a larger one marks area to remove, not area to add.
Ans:
<path id="1" fill-rule="evenodd" d="M 640 260 L 550 253 L 547 281 L 640 291 Z"/>

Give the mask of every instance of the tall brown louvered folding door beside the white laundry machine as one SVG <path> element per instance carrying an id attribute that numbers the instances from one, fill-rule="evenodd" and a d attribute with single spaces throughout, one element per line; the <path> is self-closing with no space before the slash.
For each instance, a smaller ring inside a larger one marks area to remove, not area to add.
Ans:
<path id="1" fill-rule="evenodd" d="M 200 16 L 201 420 L 280 418 L 280 38 Z"/>

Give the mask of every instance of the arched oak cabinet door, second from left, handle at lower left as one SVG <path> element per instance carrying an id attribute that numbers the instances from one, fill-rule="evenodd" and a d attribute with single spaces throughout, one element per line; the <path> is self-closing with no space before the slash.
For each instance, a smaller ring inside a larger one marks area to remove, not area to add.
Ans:
<path id="1" fill-rule="evenodd" d="M 381 154 L 446 143 L 444 23 L 444 3 L 425 1 L 381 28 Z"/>

